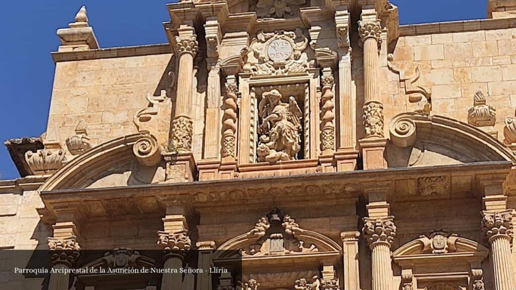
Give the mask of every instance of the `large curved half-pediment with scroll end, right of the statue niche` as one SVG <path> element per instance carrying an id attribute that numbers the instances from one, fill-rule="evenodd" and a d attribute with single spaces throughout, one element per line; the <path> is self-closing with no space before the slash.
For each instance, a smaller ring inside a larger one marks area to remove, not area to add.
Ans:
<path id="1" fill-rule="evenodd" d="M 391 120 L 390 168 L 510 161 L 516 157 L 490 134 L 451 118 L 404 113 Z"/>

